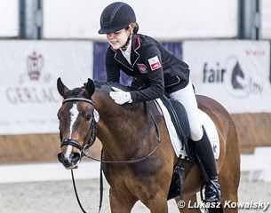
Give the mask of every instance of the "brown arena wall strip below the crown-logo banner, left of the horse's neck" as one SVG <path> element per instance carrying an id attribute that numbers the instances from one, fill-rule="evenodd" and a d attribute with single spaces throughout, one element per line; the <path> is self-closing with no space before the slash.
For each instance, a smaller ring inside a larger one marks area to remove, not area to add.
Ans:
<path id="1" fill-rule="evenodd" d="M 22 162 L 58 162 L 59 134 L 27 134 L 0 136 L 0 164 Z M 100 141 L 90 149 L 92 157 L 100 159 Z"/>

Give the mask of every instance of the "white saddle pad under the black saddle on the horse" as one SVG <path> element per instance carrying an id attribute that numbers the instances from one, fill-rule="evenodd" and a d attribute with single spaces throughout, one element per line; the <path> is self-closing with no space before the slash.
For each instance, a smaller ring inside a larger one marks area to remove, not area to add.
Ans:
<path id="1" fill-rule="evenodd" d="M 166 107 L 163 105 L 163 102 L 161 99 L 155 99 L 155 104 L 157 108 L 160 109 L 160 113 L 163 114 L 166 127 L 168 129 L 168 132 L 171 138 L 171 144 L 173 146 L 176 156 L 181 157 L 181 158 L 186 158 L 187 151 L 185 150 L 185 146 L 182 146 L 182 142 L 179 140 L 178 134 L 174 128 L 173 123 L 171 122 L 170 113 L 168 112 Z M 203 126 L 206 130 L 207 136 L 210 139 L 214 157 L 215 159 L 219 159 L 220 146 L 219 146 L 218 130 L 216 129 L 214 122 L 212 122 L 208 114 L 205 114 L 202 110 L 200 110 L 199 114 L 200 114 L 200 120 L 202 120 Z"/>

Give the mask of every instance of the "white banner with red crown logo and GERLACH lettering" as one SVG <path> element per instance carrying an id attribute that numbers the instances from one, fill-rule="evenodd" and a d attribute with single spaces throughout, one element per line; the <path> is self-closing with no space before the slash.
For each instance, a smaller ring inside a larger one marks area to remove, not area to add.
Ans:
<path id="1" fill-rule="evenodd" d="M 1 41 L 0 59 L 4 135 L 58 132 L 57 78 L 73 89 L 92 77 L 91 42 Z"/>

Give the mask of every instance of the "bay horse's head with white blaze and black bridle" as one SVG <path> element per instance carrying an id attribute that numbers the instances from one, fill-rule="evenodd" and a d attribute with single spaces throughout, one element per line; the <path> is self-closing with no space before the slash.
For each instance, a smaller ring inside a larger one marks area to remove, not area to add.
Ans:
<path id="1" fill-rule="evenodd" d="M 59 78 L 57 86 L 63 97 L 58 112 L 61 141 L 58 159 L 66 169 L 74 169 L 96 138 L 99 114 L 92 102 L 95 85 L 88 79 L 84 87 L 69 90 Z"/>

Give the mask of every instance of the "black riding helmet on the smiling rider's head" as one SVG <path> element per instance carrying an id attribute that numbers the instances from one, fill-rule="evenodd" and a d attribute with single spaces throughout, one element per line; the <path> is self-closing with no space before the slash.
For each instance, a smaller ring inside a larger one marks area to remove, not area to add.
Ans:
<path id="1" fill-rule="evenodd" d="M 136 21 L 132 7 L 123 2 L 109 4 L 100 15 L 99 34 L 115 33 Z"/>

